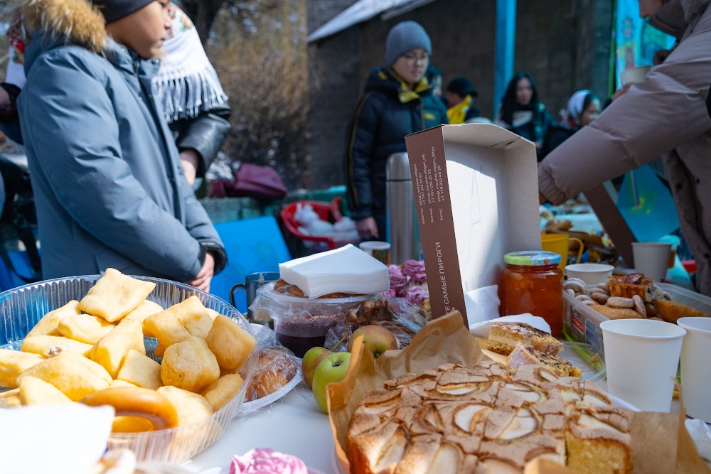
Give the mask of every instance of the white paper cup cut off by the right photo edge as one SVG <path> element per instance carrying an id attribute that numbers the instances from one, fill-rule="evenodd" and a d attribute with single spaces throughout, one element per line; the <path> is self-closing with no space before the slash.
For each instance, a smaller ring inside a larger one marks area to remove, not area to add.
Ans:
<path id="1" fill-rule="evenodd" d="M 681 345 L 681 394 L 686 414 L 711 423 L 711 318 L 679 318 L 686 330 Z"/>

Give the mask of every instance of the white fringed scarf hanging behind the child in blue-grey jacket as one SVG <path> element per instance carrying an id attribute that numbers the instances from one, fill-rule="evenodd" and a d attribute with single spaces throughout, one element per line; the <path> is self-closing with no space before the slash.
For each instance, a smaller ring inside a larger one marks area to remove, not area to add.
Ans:
<path id="1" fill-rule="evenodd" d="M 197 117 L 202 111 L 224 104 L 228 97 L 191 19 L 175 4 L 169 7 L 169 14 L 171 30 L 152 86 L 166 120 L 171 123 Z"/>

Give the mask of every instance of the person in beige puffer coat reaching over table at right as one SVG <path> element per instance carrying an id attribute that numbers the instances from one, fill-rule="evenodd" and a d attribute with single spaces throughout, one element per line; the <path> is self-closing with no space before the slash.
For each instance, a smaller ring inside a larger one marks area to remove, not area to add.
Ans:
<path id="1" fill-rule="evenodd" d="M 696 286 L 711 296 L 711 0 L 640 0 L 640 16 L 678 38 L 663 63 L 538 166 L 542 201 L 560 204 L 663 156 Z"/>

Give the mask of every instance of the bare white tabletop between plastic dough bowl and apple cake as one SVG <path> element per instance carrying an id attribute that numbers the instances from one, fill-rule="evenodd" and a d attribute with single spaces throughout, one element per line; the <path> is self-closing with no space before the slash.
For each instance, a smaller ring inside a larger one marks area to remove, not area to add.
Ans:
<path id="1" fill-rule="evenodd" d="M 328 415 L 316 405 L 304 382 L 277 402 L 248 416 L 240 414 L 218 441 L 185 468 L 196 474 L 226 474 L 232 456 L 252 448 L 272 448 L 301 458 L 311 469 L 339 474 Z"/>

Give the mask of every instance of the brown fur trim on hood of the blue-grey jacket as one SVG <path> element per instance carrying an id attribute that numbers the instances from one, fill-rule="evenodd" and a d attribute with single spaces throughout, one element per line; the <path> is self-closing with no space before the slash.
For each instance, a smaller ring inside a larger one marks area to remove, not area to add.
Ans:
<path id="1" fill-rule="evenodd" d="M 88 0 L 21 0 L 20 11 L 28 32 L 47 31 L 95 53 L 106 48 L 106 21 Z"/>

